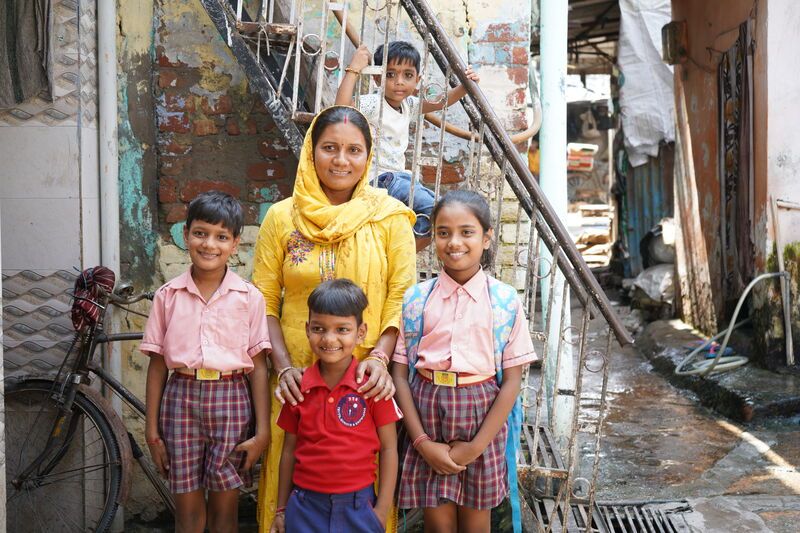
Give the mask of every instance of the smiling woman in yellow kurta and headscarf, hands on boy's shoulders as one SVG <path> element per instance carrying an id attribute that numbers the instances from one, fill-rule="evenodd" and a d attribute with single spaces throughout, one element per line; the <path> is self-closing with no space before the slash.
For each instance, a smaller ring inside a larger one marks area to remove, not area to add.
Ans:
<path id="1" fill-rule="evenodd" d="M 366 146 L 364 146 L 366 144 Z M 267 212 L 255 250 L 253 282 L 264 294 L 275 373 L 270 380 L 272 441 L 258 490 L 259 531 L 275 516 L 283 431 L 276 425 L 283 401 L 302 401 L 302 370 L 313 363 L 305 333 L 306 300 L 322 281 L 348 278 L 367 295 L 367 336 L 354 355 L 357 377 L 369 379 L 366 397 L 386 398 L 394 385 L 377 359 L 394 351 L 403 293 L 415 281 L 414 213 L 367 183 L 372 138 L 354 108 L 320 113 L 305 137 L 291 198 Z M 368 360 L 367 356 L 372 355 Z M 387 531 L 396 529 L 390 513 Z"/>

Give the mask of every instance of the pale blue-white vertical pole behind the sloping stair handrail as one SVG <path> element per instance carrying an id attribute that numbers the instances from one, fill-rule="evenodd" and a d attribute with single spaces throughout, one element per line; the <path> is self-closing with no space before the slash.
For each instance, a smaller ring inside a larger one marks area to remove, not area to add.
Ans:
<path id="1" fill-rule="evenodd" d="M 567 0 L 549 0 L 542 2 L 540 15 L 541 42 L 541 98 L 542 129 L 540 139 L 540 177 L 539 185 L 544 196 L 550 202 L 553 213 L 566 222 L 567 218 L 567 19 L 569 4 Z M 539 254 L 550 257 L 550 252 L 541 246 Z M 547 309 L 553 306 L 550 314 L 554 319 L 547 327 L 548 348 L 557 350 L 557 345 L 564 331 L 570 331 L 571 314 L 569 310 L 569 287 L 566 285 L 560 270 L 556 270 L 553 292 L 542 289 L 542 305 Z M 561 309 L 561 305 L 566 309 Z M 555 317 L 563 317 L 561 323 Z M 556 419 L 551 420 L 557 437 L 570 435 L 572 421 L 569 413 L 573 410 L 574 396 L 559 395 L 559 390 L 574 390 L 575 377 L 572 371 L 572 347 L 569 342 L 562 343 L 564 353 L 560 357 L 551 358 L 552 364 L 544 368 L 544 382 L 547 397 L 552 402 L 550 412 Z M 553 352 L 554 353 L 554 352 Z M 558 368 L 556 368 L 558 361 Z M 556 383 L 558 379 L 558 383 Z"/>

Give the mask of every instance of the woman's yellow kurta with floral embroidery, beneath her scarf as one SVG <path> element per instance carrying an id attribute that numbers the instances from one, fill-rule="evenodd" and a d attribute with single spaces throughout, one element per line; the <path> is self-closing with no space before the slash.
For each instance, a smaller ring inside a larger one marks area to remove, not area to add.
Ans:
<path id="1" fill-rule="evenodd" d="M 296 229 L 292 210 L 293 199 L 287 198 L 267 212 L 256 244 L 253 283 L 264 294 L 267 315 L 280 319 L 292 365 L 306 367 L 313 362 L 305 333 L 308 319 L 306 301 L 320 283 L 320 269 L 324 268 L 320 253 L 326 246 L 307 240 Z M 399 328 L 403 293 L 414 283 L 416 267 L 414 235 L 406 213 L 395 212 L 367 222 L 364 229 L 371 232 L 372 238 L 366 240 L 376 249 L 354 250 L 352 247 L 348 249 L 344 243 L 341 246 L 334 245 L 338 257 L 337 277 L 344 277 L 339 276 L 339 265 L 344 262 L 345 255 L 350 255 L 347 259 L 358 263 L 357 271 L 372 278 L 353 279 L 369 298 L 369 307 L 364 313 L 367 336 L 363 345 L 355 351 L 359 360 L 369 353 L 386 328 Z M 376 273 L 379 275 L 376 276 Z M 273 374 L 270 391 L 275 386 Z M 259 482 L 260 531 L 269 531 L 278 496 L 278 466 L 283 448 L 283 430 L 276 425 L 280 408 L 281 404 L 273 398 L 272 441 L 267 449 Z"/>

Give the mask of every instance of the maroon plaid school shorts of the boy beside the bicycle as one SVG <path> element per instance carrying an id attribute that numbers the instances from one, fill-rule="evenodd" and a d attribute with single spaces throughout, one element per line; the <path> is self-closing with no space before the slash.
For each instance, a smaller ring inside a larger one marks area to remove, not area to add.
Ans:
<path id="1" fill-rule="evenodd" d="M 225 491 L 252 483 L 246 456 L 233 449 L 250 437 L 252 407 L 244 374 L 201 381 L 172 374 L 161 398 L 159 425 L 169 455 L 173 494 Z"/>

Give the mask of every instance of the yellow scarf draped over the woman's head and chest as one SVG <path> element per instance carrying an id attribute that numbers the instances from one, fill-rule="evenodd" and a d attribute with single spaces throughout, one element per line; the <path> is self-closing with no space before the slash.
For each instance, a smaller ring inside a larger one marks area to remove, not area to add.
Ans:
<path id="1" fill-rule="evenodd" d="M 357 109 L 350 109 L 361 115 Z M 367 122 L 366 118 L 364 122 Z M 336 278 L 353 280 L 364 289 L 368 301 L 377 302 L 380 298 L 373 298 L 373 294 L 379 294 L 376 291 L 380 291 L 381 288 L 382 292 L 385 292 L 387 283 L 384 279 L 387 271 L 386 257 L 383 250 L 378 250 L 379 241 L 373 234 L 375 228 L 370 222 L 377 222 L 392 215 L 404 215 L 413 225 L 416 216 L 402 202 L 390 197 L 384 189 L 376 189 L 367 183 L 372 150 L 364 168 L 364 175 L 356 184 L 350 201 L 332 205 L 322 190 L 314 167 L 311 134 L 316 124 L 315 118 L 306 133 L 297 164 L 297 177 L 292 193 L 292 222 L 306 239 L 328 246 L 328 250 L 324 250 L 321 254 L 320 261 L 325 261 L 325 257 L 331 258 L 333 267 L 331 274 L 335 272 Z M 373 148 L 374 146 L 373 140 Z M 379 258 L 373 256 L 376 251 L 380 252 Z M 323 270 L 322 267 L 320 270 Z M 381 323 L 381 309 L 370 305 L 365 315 L 367 317 L 374 315 L 375 320 L 370 323 Z M 364 345 L 374 346 L 381 333 L 381 331 L 368 331 Z"/>

